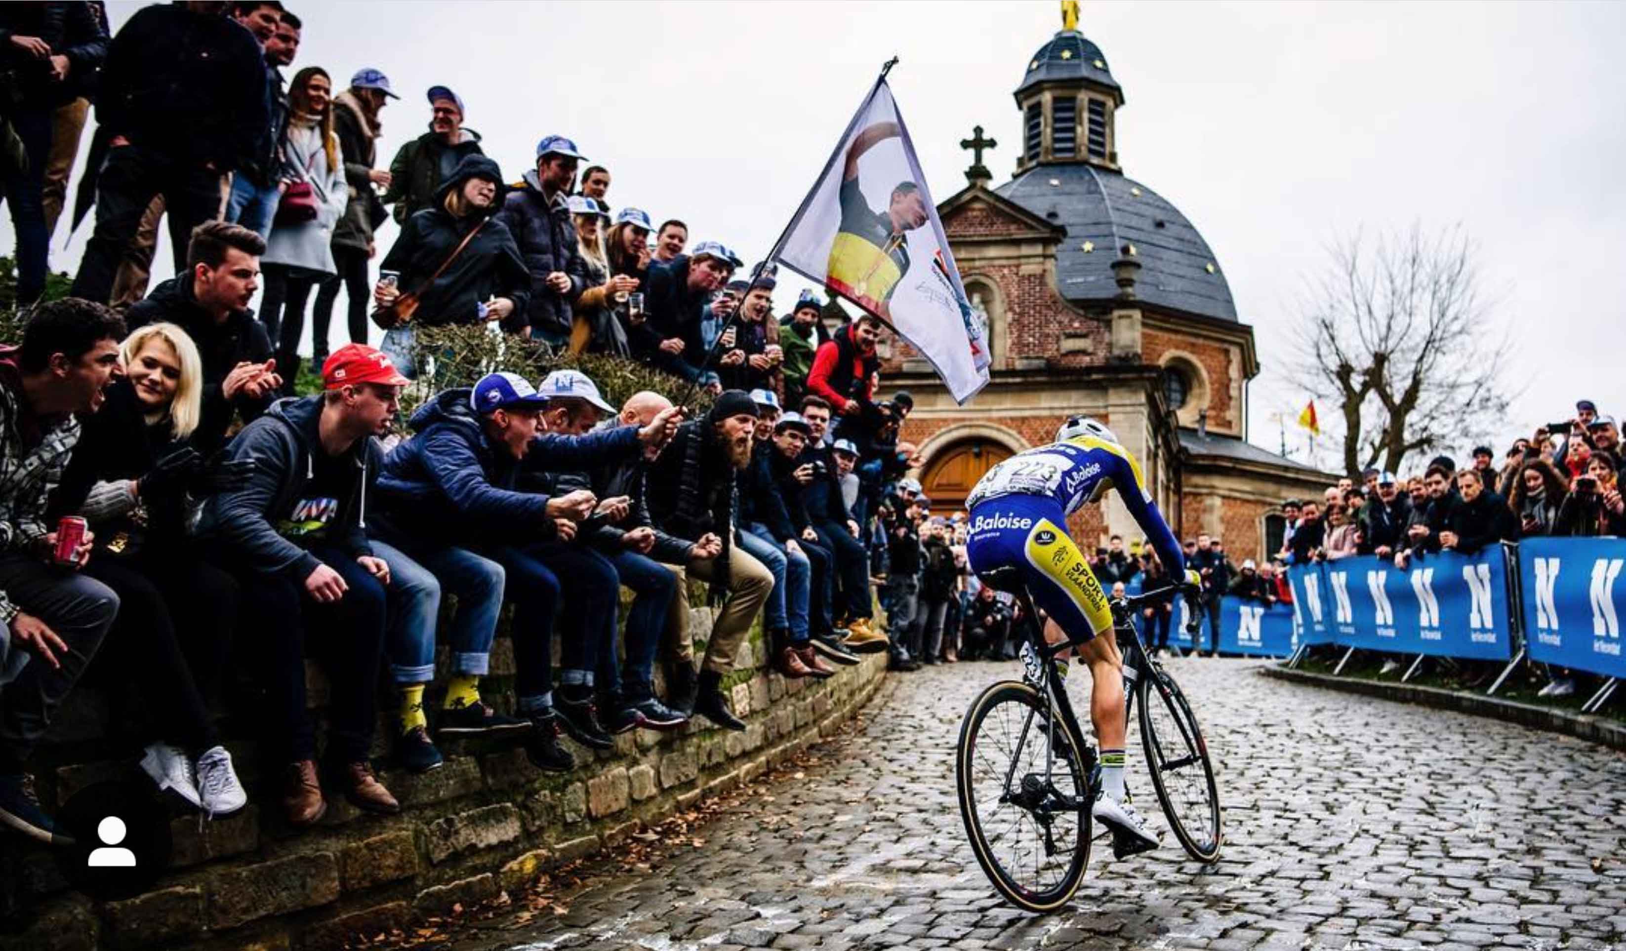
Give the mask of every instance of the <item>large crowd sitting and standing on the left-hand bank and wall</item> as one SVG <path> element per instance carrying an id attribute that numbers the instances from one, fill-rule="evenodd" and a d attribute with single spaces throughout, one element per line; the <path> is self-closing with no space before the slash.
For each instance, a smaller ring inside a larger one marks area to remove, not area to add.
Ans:
<path id="1" fill-rule="evenodd" d="M 247 678 L 263 795 L 309 826 L 327 793 L 400 808 L 379 723 L 411 772 L 462 736 L 569 771 L 566 736 L 743 730 L 724 678 L 758 618 L 785 678 L 1013 655 L 1011 606 L 966 577 L 963 515 L 906 478 L 914 403 L 880 395 L 878 320 L 834 320 L 815 291 L 776 315 L 772 268 L 611 213 L 611 171 L 563 135 L 511 182 L 447 86 L 379 167 L 387 75 L 286 78 L 302 29 L 270 0 L 153 5 L 111 37 L 101 3 L 0 10 L 0 115 L 26 151 L 5 192 L 21 341 L 0 350 L 7 826 L 50 839 L 29 756 L 96 667 L 140 694 L 141 769 L 211 816 L 250 798 L 211 715 Z M 91 109 L 93 234 L 72 294 L 39 302 Z M 176 276 L 148 288 L 164 219 Z M 340 293 L 350 340 L 330 348 Z M 616 406 L 574 369 L 449 380 L 413 340 L 444 325 L 668 384 Z M 678 405 L 699 390 L 709 410 Z M 719 608 L 701 657 L 691 579 Z M 504 605 L 515 681 L 488 696 Z M 307 654 L 330 683 L 320 741 Z"/>

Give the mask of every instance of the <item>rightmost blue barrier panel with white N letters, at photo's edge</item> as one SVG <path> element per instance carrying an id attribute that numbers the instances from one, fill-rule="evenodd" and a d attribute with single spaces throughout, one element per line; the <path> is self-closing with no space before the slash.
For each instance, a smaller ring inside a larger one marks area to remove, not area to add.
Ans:
<path id="1" fill-rule="evenodd" d="M 1525 649 L 1533 660 L 1626 678 L 1623 538 L 1527 538 L 1519 543 Z"/>

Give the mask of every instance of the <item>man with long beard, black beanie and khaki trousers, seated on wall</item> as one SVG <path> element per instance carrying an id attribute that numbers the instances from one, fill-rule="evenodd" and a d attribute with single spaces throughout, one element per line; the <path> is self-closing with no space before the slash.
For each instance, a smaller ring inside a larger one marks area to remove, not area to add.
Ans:
<path id="1" fill-rule="evenodd" d="M 772 572 L 737 545 L 733 525 L 737 480 L 751 463 L 754 429 L 756 402 L 727 390 L 711 413 L 678 428 L 646 480 L 655 528 L 693 541 L 689 574 L 711 582 L 712 603 L 727 600 L 706 644 L 694 712 L 730 730 L 745 730 L 745 722 L 728 710 L 722 678 L 774 587 Z"/>

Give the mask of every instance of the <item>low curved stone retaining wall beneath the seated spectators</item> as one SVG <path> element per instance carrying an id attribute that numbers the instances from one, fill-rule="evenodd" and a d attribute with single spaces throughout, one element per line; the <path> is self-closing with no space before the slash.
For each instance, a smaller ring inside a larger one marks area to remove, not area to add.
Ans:
<path id="1" fill-rule="evenodd" d="M 711 618 L 706 608 L 693 611 L 698 641 Z M 275 790 L 259 784 L 254 745 L 228 741 L 250 805 L 213 823 L 177 808 L 174 860 L 146 894 L 89 901 L 67 889 L 46 849 L 0 839 L 0 948 L 338 948 L 358 933 L 498 897 L 829 736 L 886 671 L 885 654 L 828 681 L 787 681 L 763 663 L 756 629 L 724 681 L 750 723 L 743 733 L 699 722 L 665 735 L 636 730 L 600 754 L 567 743 L 577 767 L 563 775 L 537 771 L 507 743 L 450 741 L 441 746 L 447 761 L 437 771 L 380 772 L 402 801 L 398 816 L 369 816 L 330 798 L 327 818 L 307 831 L 281 821 Z M 439 667 L 444 673 L 444 657 Z M 512 668 L 511 642 L 499 636 L 485 693 L 507 709 Z M 312 707 L 320 707 L 327 684 L 314 667 L 309 680 Z M 120 740 L 111 709 L 106 688 L 70 697 L 36 762 L 47 808 L 130 769 L 128 758 L 109 758 Z M 247 736 L 231 715 L 223 727 L 228 736 Z M 130 749 L 130 736 L 124 740 Z M 385 753 L 382 740 L 377 753 Z"/>

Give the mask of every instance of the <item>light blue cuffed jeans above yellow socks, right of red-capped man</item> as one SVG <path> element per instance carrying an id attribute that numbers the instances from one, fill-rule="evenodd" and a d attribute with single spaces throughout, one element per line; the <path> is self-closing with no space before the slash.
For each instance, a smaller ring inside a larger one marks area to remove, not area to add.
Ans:
<path id="1" fill-rule="evenodd" d="M 467 548 L 372 540 L 372 553 L 390 566 L 387 650 L 397 684 L 434 680 L 434 629 L 441 592 L 457 598 L 450 624 L 452 670 L 485 676 L 502 610 L 502 566 Z M 410 553 L 410 554 L 408 554 Z"/>

